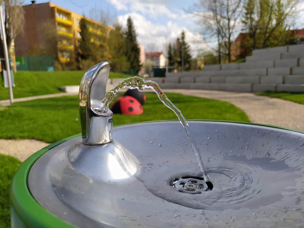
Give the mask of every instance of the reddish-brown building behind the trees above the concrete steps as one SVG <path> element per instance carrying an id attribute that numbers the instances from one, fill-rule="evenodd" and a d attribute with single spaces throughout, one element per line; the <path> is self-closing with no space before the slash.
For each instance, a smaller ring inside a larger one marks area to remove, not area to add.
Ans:
<path id="1" fill-rule="evenodd" d="M 295 34 L 295 43 L 304 43 L 304 29 L 290 30 Z M 247 51 L 244 49 L 243 42 L 248 36 L 248 33 L 240 33 L 231 45 L 231 61 L 236 61 L 245 58 Z"/>

